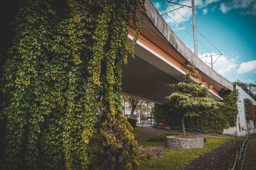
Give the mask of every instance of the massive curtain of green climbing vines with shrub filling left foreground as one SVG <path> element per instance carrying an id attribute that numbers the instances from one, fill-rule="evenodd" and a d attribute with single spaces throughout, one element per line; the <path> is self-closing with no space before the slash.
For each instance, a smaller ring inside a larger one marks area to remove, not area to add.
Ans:
<path id="1" fill-rule="evenodd" d="M 1 169 L 87 169 L 96 122 L 103 158 L 98 165 L 137 166 L 136 141 L 122 113 L 121 66 L 134 53 L 143 5 L 20 1 L 1 76 Z M 131 42 L 130 14 L 136 28 Z"/>

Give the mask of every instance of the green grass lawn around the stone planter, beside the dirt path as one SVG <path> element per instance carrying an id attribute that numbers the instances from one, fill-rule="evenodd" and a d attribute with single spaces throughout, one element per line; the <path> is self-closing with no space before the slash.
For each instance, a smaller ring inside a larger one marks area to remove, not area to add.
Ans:
<path id="1" fill-rule="evenodd" d="M 157 145 L 165 145 L 165 141 L 150 142 L 148 138 L 165 138 L 164 136 L 156 136 L 155 134 L 144 132 L 142 128 L 134 128 L 134 136 L 138 140 L 139 146 L 150 147 Z M 172 134 L 168 134 L 172 135 Z M 177 134 L 174 134 L 177 135 Z M 165 156 L 163 158 L 138 160 L 140 162 L 139 169 L 182 169 L 188 166 L 189 162 L 200 157 L 209 150 L 212 150 L 226 141 L 232 140 L 227 138 L 212 138 L 204 137 L 207 142 L 204 143 L 204 148 L 201 149 L 187 149 L 187 150 L 173 150 L 164 148 Z"/>

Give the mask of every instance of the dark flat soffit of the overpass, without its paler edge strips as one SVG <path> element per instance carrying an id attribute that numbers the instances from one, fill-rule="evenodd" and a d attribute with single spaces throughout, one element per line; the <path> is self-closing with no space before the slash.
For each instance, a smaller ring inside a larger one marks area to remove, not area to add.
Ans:
<path id="1" fill-rule="evenodd" d="M 166 85 L 177 82 L 177 78 L 139 57 L 129 57 L 128 64 L 123 66 L 122 88 L 127 96 L 164 104 L 165 97 L 173 92 Z"/>

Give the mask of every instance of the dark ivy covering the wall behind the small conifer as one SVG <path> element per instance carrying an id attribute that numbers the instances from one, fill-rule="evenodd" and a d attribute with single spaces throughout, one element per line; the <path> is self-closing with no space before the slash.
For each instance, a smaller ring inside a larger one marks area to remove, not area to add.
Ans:
<path id="1" fill-rule="evenodd" d="M 220 110 L 204 111 L 199 117 L 185 117 L 186 127 L 189 129 L 198 128 L 203 131 L 216 129 L 223 131 L 228 127 L 236 126 L 237 121 L 237 92 L 230 90 L 221 90 L 220 96 L 223 98 L 223 104 Z M 157 122 L 164 122 L 173 127 L 180 126 L 180 115 L 170 110 L 168 105 L 155 104 L 153 110 L 154 118 Z"/>

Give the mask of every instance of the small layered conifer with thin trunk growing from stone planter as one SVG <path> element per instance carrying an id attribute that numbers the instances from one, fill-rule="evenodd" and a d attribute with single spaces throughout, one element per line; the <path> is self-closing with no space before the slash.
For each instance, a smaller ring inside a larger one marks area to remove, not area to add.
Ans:
<path id="1" fill-rule="evenodd" d="M 178 91 L 166 97 L 170 109 L 181 117 L 183 136 L 186 136 L 184 117 L 198 117 L 207 111 L 218 110 L 221 106 L 220 102 L 209 97 L 208 89 L 203 83 L 198 83 L 195 79 L 200 79 L 198 71 L 193 64 L 187 64 L 184 81 L 169 85 L 172 88 L 177 87 Z"/>

